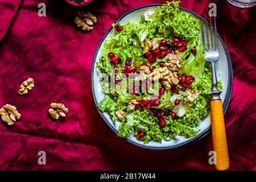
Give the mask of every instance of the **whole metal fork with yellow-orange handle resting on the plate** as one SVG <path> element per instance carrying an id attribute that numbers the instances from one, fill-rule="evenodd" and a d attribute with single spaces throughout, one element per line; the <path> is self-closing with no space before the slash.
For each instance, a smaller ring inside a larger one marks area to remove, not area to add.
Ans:
<path id="1" fill-rule="evenodd" d="M 218 36 L 216 27 L 216 17 L 214 16 L 214 32 L 212 30 L 212 21 L 210 19 L 210 39 L 208 36 L 207 29 L 207 18 L 205 23 L 201 20 L 201 36 L 202 43 L 205 48 L 204 55 L 205 60 L 212 64 L 212 100 L 210 101 L 210 112 L 212 118 L 212 138 L 213 138 L 213 149 L 216 152 L 216 163 L 215 167 L 219 171 L 224 171 L 229 168 L 229 155 L 228 155 L 228 144 L 226 142 L 226 131 L 224 114 L 222 109 L 222 101 L 220 98 L 221 91 L 217 88 L 217 77 L 214 67 L 214 63 L 220 58 L 218 53 Z M 205 32 L 204 32 L 205 24 Z M 206 36 L 205 36 L 206 34 Z M 214 37 L 214 40 L 213 40 Z M 205 41 L 206 38 L 206 41 Z M 207 47 L 206 47 L 207 46 Z"/>

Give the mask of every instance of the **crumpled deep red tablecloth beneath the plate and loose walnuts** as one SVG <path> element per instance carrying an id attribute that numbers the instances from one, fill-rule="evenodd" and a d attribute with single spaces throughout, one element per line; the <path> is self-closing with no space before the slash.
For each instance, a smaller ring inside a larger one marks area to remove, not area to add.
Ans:
<path id="1" fill-rule="evenodd" d="M 46 3 L 46 17 L 38 3 Z M 231 170 L 255 170 L 256 6 L 240 9 L 217 4 L 218 32 L 229 49 L 234 88 L 225 115 Z M 2 170 L 215 170 L 208 163 L 212 137 L 175 150 L 150 151 L 117 137 L 97 113 L 90 87 L 92 61 L 102 36 L 121 15 L 159 0 L 96 0 L 85 7 L 63 1 L 0 0 L 0 106 L 15 105 L 22 114 L 13 127 L 0 125 Z M 181 6 L 202 15 L 209 0 L 183 0 Z M 79 10 L 97 16 L 92 32 L 74 25 Z M 18 96 L 28 77 L 35 88 Z M 54 122 L 51 102 L 69 113 Z M 46 165 L 38 151 L 46 151 Z"/>

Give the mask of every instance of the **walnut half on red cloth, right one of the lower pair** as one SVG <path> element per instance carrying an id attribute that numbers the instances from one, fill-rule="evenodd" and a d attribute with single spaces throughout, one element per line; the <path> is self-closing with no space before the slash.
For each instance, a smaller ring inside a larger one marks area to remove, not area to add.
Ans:
<path id="1" fill-rule="evenodd" d="M 61 103 L 52 103 L 49 109 L 49 114 L 53 119 L 59 119 L 60 117 L 65 117 L 68 113 L 68 108 Z"/>

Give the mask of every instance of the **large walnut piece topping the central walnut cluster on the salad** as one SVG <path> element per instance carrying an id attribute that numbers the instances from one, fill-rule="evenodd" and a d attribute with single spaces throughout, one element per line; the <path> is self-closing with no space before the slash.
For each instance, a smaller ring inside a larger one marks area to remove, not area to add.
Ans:
<path id="1" fill-rule="evenodd" d="M 164 66 L 173 72 L 177 72 L 181 68 L 181 65 L 180 65 L 181 61 L 182 59 L 179 55 L 175 55 L 174 53 L 169 53 L 166 56 L 167 63 L 165 63 Z"/>

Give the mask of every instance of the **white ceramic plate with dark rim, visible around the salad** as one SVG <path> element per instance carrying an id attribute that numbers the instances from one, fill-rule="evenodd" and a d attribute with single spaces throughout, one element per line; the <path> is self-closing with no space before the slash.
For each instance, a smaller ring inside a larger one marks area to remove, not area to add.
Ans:
<path id="1" fill-rule="evenodd" d="M 139 20 L 141 19 L 141 15 L 143 15 L 145 11 L 155 10 L 157 6 L 162 6 L 162 4 L 138 7 L 137 9 L 129 11 L 128 13 L 123 15 L 121 18 L 119 18 L 117 21 L 119 21 L 121 24 L 125 24 L 129 21 Z M 187 11 L 188 13 L 191 13 L 193 16 L 196 16 L 199 19 L 203 19 L 201 16 L 193 13 L 192 11 L 183 9 L 182 7 L 180 7 L 180 9 Z M 208 26 L 208 31 L 209 30 L 210 28 Z M 100 71 L 96 68 L 96 61 L 98 61 L 102 57 L 101 49 L 104 45 L 105 40 L 109 39 L 110 36 L 112 35 L 114 35 L 114 28 L 110 27 L 108 32 L 106 32 L 106 34 L 102 38 L 93 60 L 92 91 L 93 91 L 94 102 L 96 105 L 98 104 L 98 102 L 100 102 L 104 98 L 104 95 L 105 95 L 101 92 L 100 80 L 98 78 Z M 223 82 L 223 92 L 221 93 L 221 100 L 223 102 L 224 113 L 225 113 L 226 110 L 228 109 L 229 101 L 232 95 L 233 71 L 232 71 L 232 64 L 231 64 L 228 49 L 226 48 L 220 36 L 218 36 L 218 42 L 219 42 L 220 60 L 218 60 L 216 63 L 216 74 L 217 74 L 217 79 L 222 80 Z M 104 119 L 104 121 L 108 124 L 108 126 L 115 133 L 118 133 L 118 126 L 120 125 L 120 122 L 114 123 L 107 113 L 101 113 L 100 110 L 98 111 L 101 117 Z M 151 150 L 166 150 L 171 148 L 177 148 L 177 147 L 183 146 L 184 144 L 203 138 L 205 135 L 209 134 L 210 126 L 211 126 L 210 117 L 208 117 L 203 119 L 199 123 L 199 125 L 196 127 L 197 129 L 200 129 L 200 132 L 195 137 L 185 138 L 184 136 L 177 136 L 169 142 L 162 140 L 161 143 L 150 142 L 148 144 L 143 144 L 142 141 L 137 140 L 136 137 L 133 137 L 133 134 L 131 134 L 130 137 L 127 138 L 127 141 L 142 148 L 147 148 Z"/>

